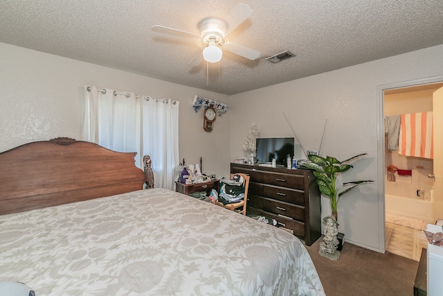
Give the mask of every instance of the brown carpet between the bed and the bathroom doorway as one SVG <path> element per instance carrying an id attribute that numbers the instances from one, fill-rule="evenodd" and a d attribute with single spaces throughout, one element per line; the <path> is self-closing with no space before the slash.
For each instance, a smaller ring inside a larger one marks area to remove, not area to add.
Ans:
<path id="1" fill-rule="evenodd" d="M 333 261 L 318 254 L 322 240 L 306 248 L 327 296 L 413 295 L 417 261 L 350 243 L 343 246 L 340 259 Z"/>

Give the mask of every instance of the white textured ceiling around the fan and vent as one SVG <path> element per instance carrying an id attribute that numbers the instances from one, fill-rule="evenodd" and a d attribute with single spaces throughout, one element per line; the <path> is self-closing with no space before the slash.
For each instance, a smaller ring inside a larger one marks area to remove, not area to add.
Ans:
<path id="1" fill-rule="evenodd" d="M 228 37 L 261 56 L 224 51 L 208 73 L 188 66 L 195 40 L 151 27 L 199 34 L 201 19 L 238 1 L 1 0 L 0 42 L 227 95 L 443 44 L 442 0 L 240 2 L 252 15 Z M 264 60 L 286 50 L 296 58 Z"/>

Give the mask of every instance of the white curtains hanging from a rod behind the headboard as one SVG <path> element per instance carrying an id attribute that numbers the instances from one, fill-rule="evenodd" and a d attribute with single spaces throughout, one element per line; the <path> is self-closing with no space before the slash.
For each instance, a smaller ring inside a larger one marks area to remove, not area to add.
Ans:
<path id="1" fill-rule="evenodd" d="M 179 164 L 179 102 L 84 87 L 82 139 L 120 152 L 150 155 L 155 186 L 174 190 Z"/>

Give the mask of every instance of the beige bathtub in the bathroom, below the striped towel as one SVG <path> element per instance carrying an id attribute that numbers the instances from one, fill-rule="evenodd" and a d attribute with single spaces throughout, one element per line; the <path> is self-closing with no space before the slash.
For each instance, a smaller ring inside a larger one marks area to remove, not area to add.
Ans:
<path id="1" fill-rule="evenodd" d="M 425 220 L 433 219 L 433 202 L 418 198 L 402 198 L 401 196 L 385 195 L 386 213 Z"/>

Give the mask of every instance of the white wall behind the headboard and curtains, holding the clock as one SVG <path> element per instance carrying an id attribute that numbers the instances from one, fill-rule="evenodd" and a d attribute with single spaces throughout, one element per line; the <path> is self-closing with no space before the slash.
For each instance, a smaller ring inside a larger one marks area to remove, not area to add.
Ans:
<path id="1" fill-rule="evenodd" d="M 229 173 L 229 116 L 203 130 L 203 111 L 192 109 L 196 94 L 229 103 L 228 96 L 0 43 L 0 152 L 54 137 L 80 139 L 84 85 L 134 92 L 180 102 L 180 159 L 203 158 L 204 173 Z M 154 161 L 154 160 L 153 160 Z"/>

